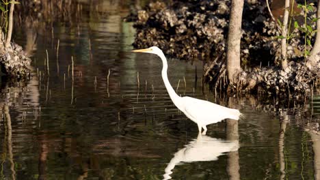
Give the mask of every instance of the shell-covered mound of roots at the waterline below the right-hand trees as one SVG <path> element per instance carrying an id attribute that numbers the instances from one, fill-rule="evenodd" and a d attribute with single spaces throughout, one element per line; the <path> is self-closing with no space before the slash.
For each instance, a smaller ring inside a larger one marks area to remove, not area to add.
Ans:
<path id="1" fill-rule="evenodd" d="M 242 71 L 237 76 L 236 85 L 229 85 L 225 64 L 224 61 L 212 61 L 204 67 L 204 76 L 212 91 L 251 91 L 300 98 L 312 95 L 320 80 L 319 66 L 310 69 L 304 61 L 291 61 L 286 70 L 278 66 L 258 66 L 250 71 Z"/>

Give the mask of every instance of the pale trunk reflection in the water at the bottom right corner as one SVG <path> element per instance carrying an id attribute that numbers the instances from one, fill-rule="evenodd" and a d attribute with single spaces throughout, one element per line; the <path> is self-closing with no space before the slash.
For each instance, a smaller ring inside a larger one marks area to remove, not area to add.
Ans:
<path id="1" fill-rule="evenodd" d="M 313 167 L 315 168 L 315 179 L 320 180 L 320 137 L 313 132 L 309 132 L 313 148 Z"/>

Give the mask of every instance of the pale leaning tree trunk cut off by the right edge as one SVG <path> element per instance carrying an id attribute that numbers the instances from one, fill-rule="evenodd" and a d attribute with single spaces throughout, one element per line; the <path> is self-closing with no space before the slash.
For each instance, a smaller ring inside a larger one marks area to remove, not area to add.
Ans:
<path id="1" fill-rule="evenodd" d="M 317 65 L 320 59 L 320 0 L 318 0 L 318 8 L 317 8 L 317 36 L 315 39 L 315 44 L 310 52 L 310 57 L 306 63 L 306 65 L 311 68 L 312 66 Z"/>

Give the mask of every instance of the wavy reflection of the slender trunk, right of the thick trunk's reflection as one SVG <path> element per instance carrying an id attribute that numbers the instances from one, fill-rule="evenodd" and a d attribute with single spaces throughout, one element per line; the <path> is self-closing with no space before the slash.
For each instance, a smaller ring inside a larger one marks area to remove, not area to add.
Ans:
<path id="1" fill-rule="evenodd" d="M 284 161 L 284 133 L 286 132 L 286 123 L 288 122 L 288 116 L 284 115 L 283 120 L 280 122 L 280 135 L 279 135 L 279 164 L 280 164 L 280 179 L 286 177 L 285 167 L 286 162 Z"/>

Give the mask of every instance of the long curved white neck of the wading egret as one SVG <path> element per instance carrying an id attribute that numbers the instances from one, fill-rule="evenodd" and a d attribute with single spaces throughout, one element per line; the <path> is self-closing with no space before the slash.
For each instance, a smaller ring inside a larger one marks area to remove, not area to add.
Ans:
<path id="1" fill-rule="evenodd" d="M 177 108 L 181 108 L 180 107 L 180 99 L 181 99 L 181 97 L 176 94 L 176 91 L 174 91 L 174 89 L 172 88 L 172 86 L 170 85 L 170 82 L 168 80 L 168 73 L 167 73 L 168 62 L 167 62 L 167 59 L 165 59 L 165 55 L 163 55 L 163 53 L 161 53 L 161 55 L 159 55 L 159 57 L 161 58 L 162 64 L 163 64 L 161 74 L 162 74 L 163 82 L 165 84 L 165 88 L 167 89 L 172 102 L 174 102 L 174 105 L 176 105 Z"/>

